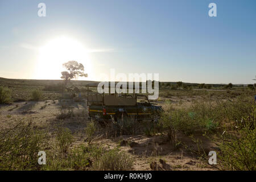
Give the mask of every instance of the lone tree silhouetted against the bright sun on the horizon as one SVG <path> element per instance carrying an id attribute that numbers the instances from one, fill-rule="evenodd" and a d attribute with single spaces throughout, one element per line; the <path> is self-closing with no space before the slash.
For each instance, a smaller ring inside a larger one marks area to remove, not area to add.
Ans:
<path id="1" fill-rule="evenodd" d="M 77 63 L 77 61 L 68 61 L 63 64 L 68 71 L 61 72 L 61 77 L 65 81 L 65 86 L 67 85 L 69 80 L 77 77 L 88 77 L 86 73 L 84 73 L 84 65 L 81 63 Z"/>

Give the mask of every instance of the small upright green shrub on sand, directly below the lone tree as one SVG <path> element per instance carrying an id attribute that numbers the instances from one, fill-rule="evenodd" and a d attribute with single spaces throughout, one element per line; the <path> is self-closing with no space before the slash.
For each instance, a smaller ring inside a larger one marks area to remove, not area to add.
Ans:
<path id="1" fill-rule="evenodd" d="M 60 152 L 66 154 L 68 148 L 73 142 L 73 136 L 68 128 L 59 127 L 56 135 L 56 144 Z"/>

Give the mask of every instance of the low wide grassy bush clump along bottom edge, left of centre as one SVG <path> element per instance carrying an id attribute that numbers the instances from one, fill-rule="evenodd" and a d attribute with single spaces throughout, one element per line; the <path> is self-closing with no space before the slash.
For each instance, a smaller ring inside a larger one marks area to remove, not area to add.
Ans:
<path id="1" fill-rule="evenodd" d="M 100 146 L 84 146 L 69 150 L 66 155 L 50 152 L 43 170 L 130 170 L 134 160 L 118 148 L 106 151 Z M 88 168 L 90 167 L 90 168 Z"/>

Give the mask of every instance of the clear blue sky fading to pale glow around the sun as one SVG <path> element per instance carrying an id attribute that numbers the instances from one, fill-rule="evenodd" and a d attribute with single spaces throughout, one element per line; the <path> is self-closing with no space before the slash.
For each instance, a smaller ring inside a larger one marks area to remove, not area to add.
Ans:
<path id="1" fill-rule="evenodd" d="M 40 2 L 46 17 L 38 16 Z M 208 16 L 212 2 L 217 17 Z M 59 79 L 61 63 L 47 69 L 53 60 L 44 60 L 49 51 L 39 49 L 54 49 L 65 37 L 63 44 L 86 49 L 88 60 L 81 63 L 87 80 L 114 68 L 159 73 L 160 81 L 250 84 L 256 75 L 255 9 L 254 0 L 0 0 L 0 77 Z"/>

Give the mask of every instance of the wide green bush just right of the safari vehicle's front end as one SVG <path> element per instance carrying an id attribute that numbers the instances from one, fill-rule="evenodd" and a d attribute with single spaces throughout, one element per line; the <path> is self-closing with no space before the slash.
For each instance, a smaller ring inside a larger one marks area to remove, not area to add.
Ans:
<path id="1" fill-rule="evenodd" d="M 194 101 L 192 105 L 182 109 L 169 107 L 162 114 L 160 124 L 162 132 L 169 140 L 174 140 L 177 131 L 186 135 L 206 130 L 215 131 L 221 118 L 220 108 L 210 101 Z M 173 136 L 173 137 L 172 137 Z"/>

